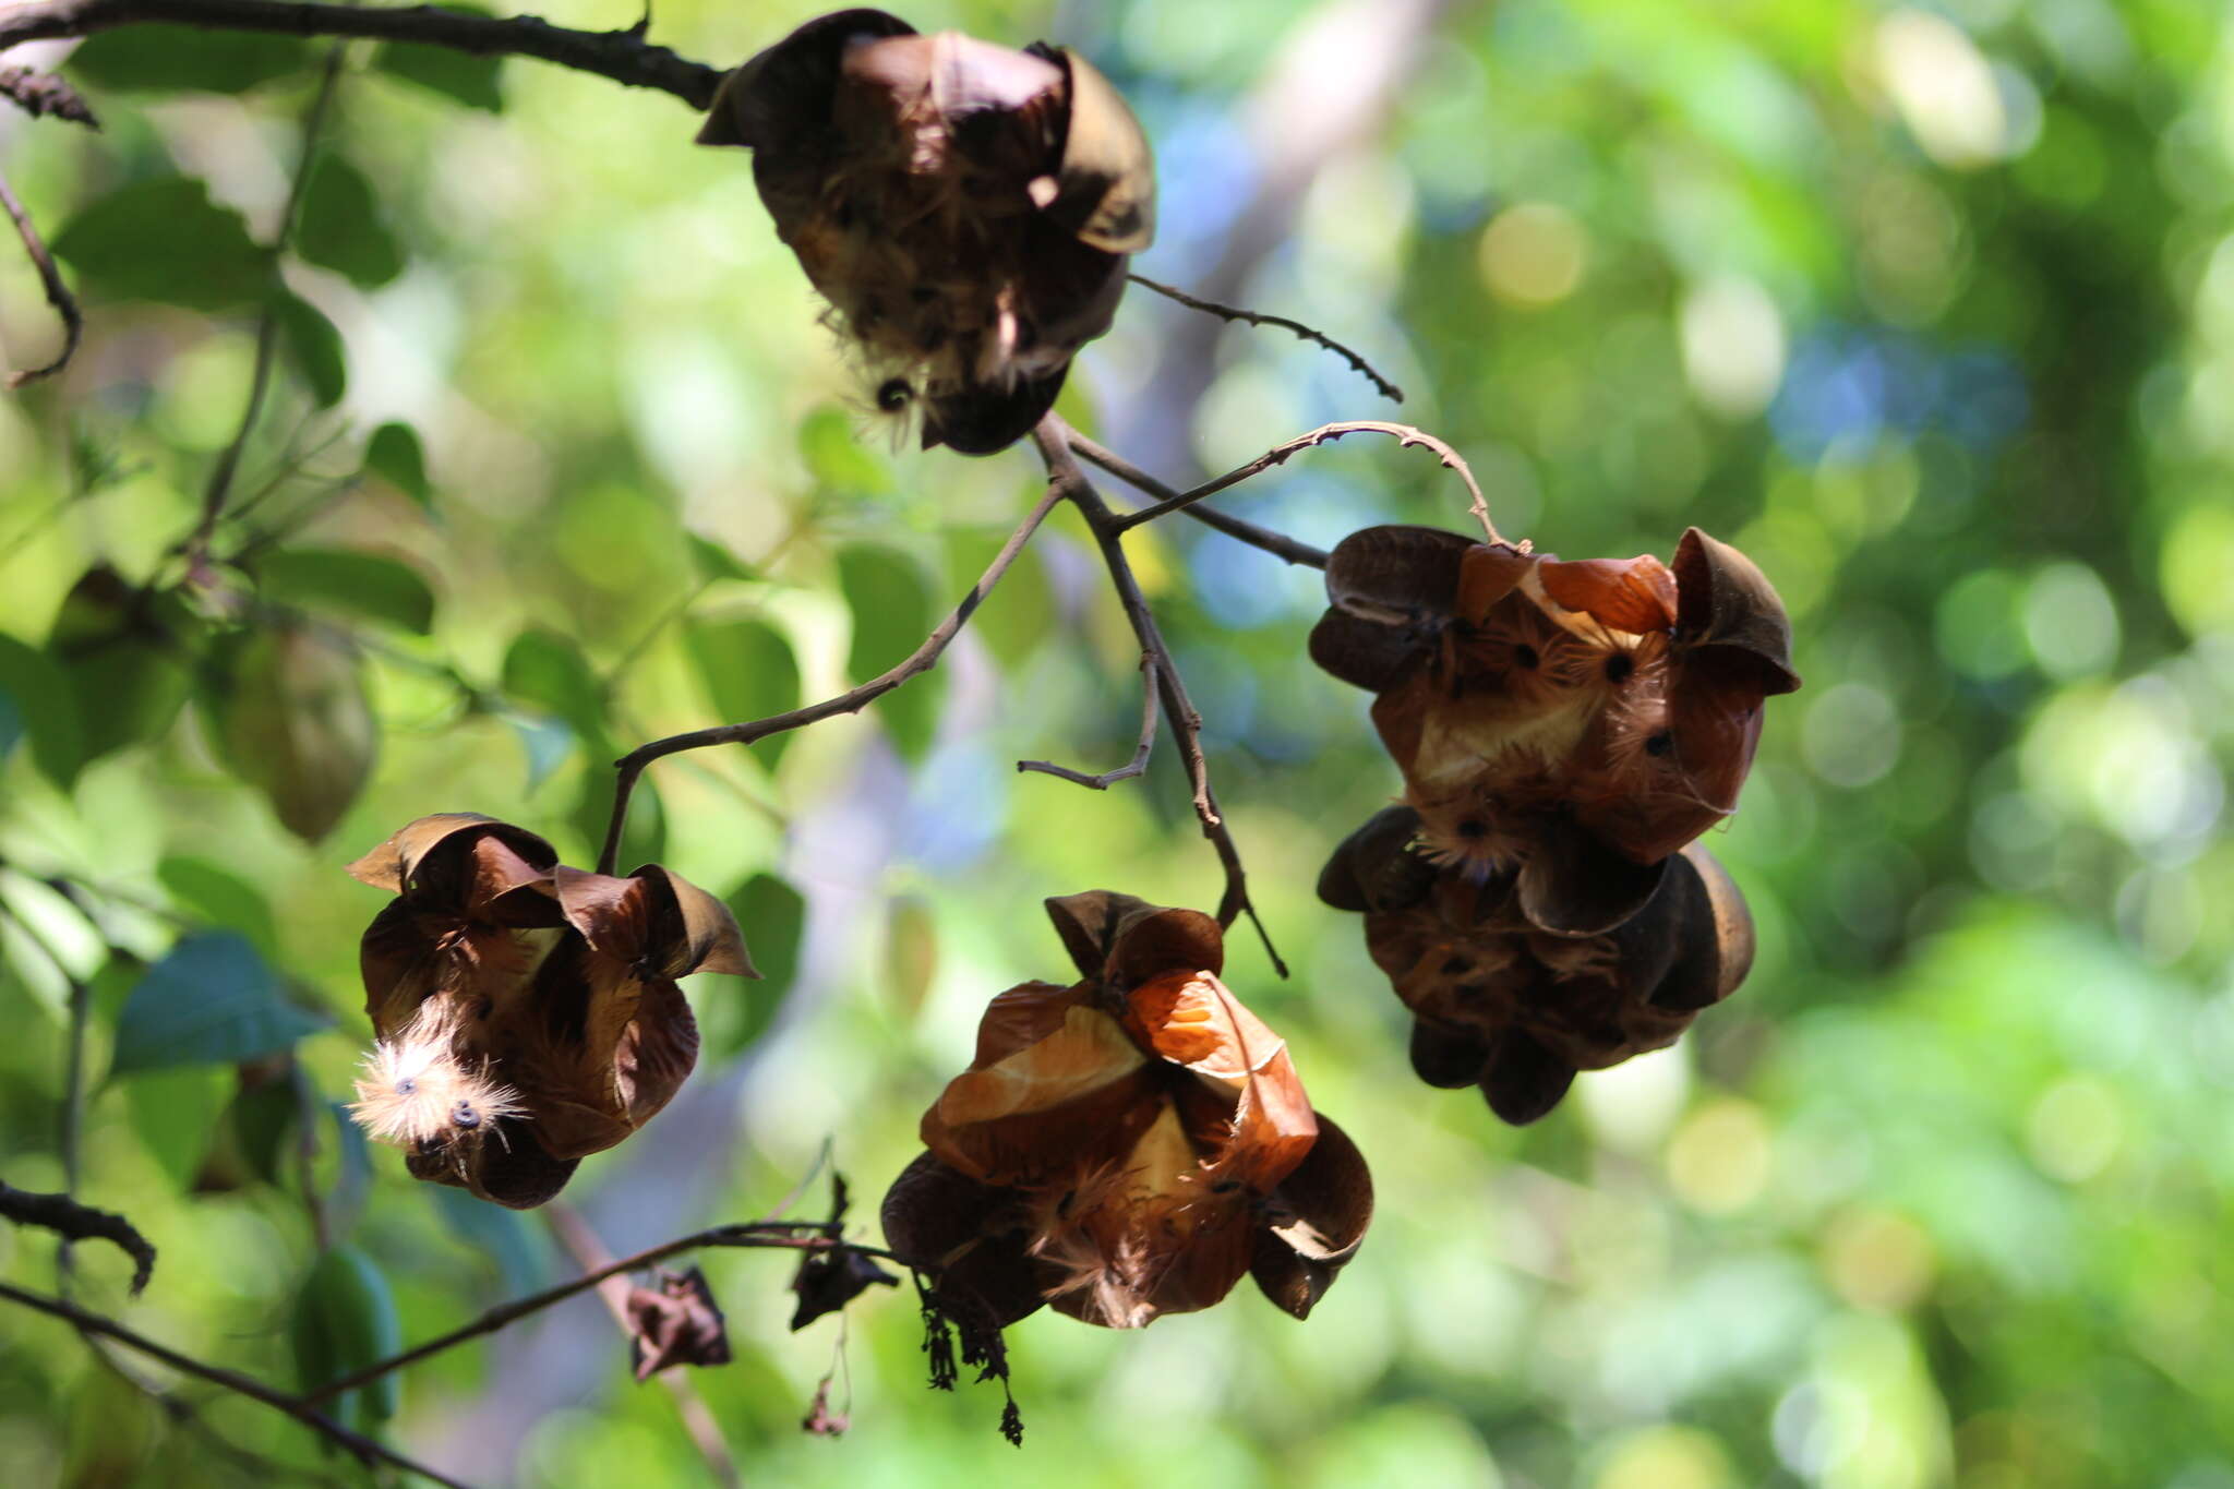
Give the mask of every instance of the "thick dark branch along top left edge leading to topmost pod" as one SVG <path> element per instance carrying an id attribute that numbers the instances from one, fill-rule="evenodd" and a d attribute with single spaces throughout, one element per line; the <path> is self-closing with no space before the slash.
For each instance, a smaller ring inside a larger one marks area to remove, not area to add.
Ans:
<path id="1" fill-rule="evenodd" d="M 626 31 L 570 31 L 538 16 L 467 16 L 431 4 L 353 9 L 290 0 L 34 0 L 0 13 L 0 51 L 16 42 L 92 36 L 130 25 L 281 31 L 286 36 L 362 36 L 422 42 L 476 56 L 529 56 L 628 87 L 675 94 L 693 109 L 713 105 L 722 69 L 690 63 Z"/>

